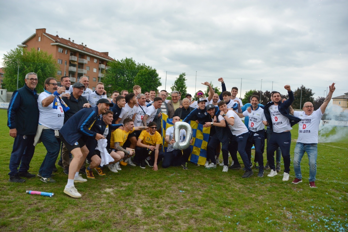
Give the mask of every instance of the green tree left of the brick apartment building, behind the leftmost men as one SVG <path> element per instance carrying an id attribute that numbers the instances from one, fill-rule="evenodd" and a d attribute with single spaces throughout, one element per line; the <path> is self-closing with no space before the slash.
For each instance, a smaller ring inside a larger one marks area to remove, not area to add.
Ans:
<path id="1" fill-rule="evenodd" d="M 35 72 L 38 75 L 37 91 L 44 91 L 44 83 L 48 77 L 56 77 L 59 65 L 53 58 L 52 54 L 44 51 L 37 51 L 32 48 L 28 51 L 25 48 L 15 48 L 4 54 L 3 58 L 4 79 L 3 88 L 13 92 L 17 89 L 17 72 L 18 88 L 24 86 L 25 75 L 28 72 Z M 19 69 L 18 69 L 19 65 Z"/>

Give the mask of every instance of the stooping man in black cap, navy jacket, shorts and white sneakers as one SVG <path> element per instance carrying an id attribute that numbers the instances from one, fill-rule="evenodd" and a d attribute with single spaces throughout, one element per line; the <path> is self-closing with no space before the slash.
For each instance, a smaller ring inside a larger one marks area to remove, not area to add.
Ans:
<path id="1" fill-rule="evenodd" d="M 74 182 L 87 181 L 87 179 L 83 179 L 79 175 L 79 169 L 86 160 L 89 152 L 85 145 L 87 138 L 94 138 L 96 140 L 105 139 L 102 134 L 92 132 L 89 128 L 93 126 L 99 115 L 108 111 L 112 106 L 113 103 L 102 98 L 97 102 L 95 107 L 83 108 L 74 114 L 60 130 L 61 140 L 68 151 L 74 156 L 69 166 L 68 184 L 64 188 L 64 193 L 73 198 L 81 197 L 81 194 L 74 187 Z"/>

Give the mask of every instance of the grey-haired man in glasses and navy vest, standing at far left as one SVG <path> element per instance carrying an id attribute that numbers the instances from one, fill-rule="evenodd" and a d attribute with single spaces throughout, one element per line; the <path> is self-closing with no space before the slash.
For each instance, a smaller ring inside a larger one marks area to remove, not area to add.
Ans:
<path id="1" fill-rule="evenodd" d="M 39 122 L 38 95 L 35 89 L 38 76 L 34 72 L 29 72 L 25 75 L 24 81 L 25 85 L 13 92 L 7 109 L 7 126 L 10 129 L 10 136 L 15 138 L 8 175 L 10 182 L 17 183 L 25 181 L 21 177 L 35 177 L 28 170 L 34 155 L 34 137 Z"/>

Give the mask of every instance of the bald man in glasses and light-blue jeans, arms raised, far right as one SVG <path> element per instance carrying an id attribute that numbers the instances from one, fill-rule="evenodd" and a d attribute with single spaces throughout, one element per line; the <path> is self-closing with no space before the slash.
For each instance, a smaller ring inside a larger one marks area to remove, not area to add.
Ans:
<path id="1" fill-rule="evenodd" d="M 315 175 L 317 174 L 317 155 L 318 155 L 318 131 L 320 120 L 325 112 L 327 104 L 329 104 L 332 94 L 335 91 L 335 83 L 329 86 L 330 92 L 327 94 L 323 105 L 316 111 L 314 110 L 313 103 L 306 102 L 303 105 L 303 111 L 294 111 L 291 106 L 289 107 L 289 113 L 295 117 L 301 118 L 299 122 L 299 137 L 296 141 L 294 150 L 294 172 L 295 179 L 293 184 L 302 182 L 301 173 L 301 160 L 304 152 L 307 152 L 309 160 L 309 187 L 316 188 Z"/>

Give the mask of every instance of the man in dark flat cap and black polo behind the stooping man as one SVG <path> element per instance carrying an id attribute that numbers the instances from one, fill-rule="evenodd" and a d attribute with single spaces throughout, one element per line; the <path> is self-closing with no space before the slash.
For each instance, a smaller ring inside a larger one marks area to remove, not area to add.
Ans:
<path id="1" fill-rule="evenodd" d="M 72 92 L 70 98 L 63 97 L 63 101 L 68 105 L 69 110 L 65 112 L 64 115 L 64 124 L 66 121 L 68 121 L 69 118 L 71 118 L 74 114 L 76 114 L 80 109 L 86 107 L 89 108 L 90 104 L 88 103 L 87 99 L 82 97 L 82 94 L 84 93 L 85 86 L 81 84 L 80 82 L 76 82 L 72 85 Z M 65 145 L 63 144 L 62 151 L 61 151 L 61 158 L 58 161 L 58 165 L 60 165 L 63 168 L 63 171 L 65 174 L 69 174 L 69 164 L 70 164 L 70 152 L 68 149 L 66 149 Z M 72 158 L 72 156 L 71 156 Z M 83 171 L 83 170 L 82 170 Z"/>

